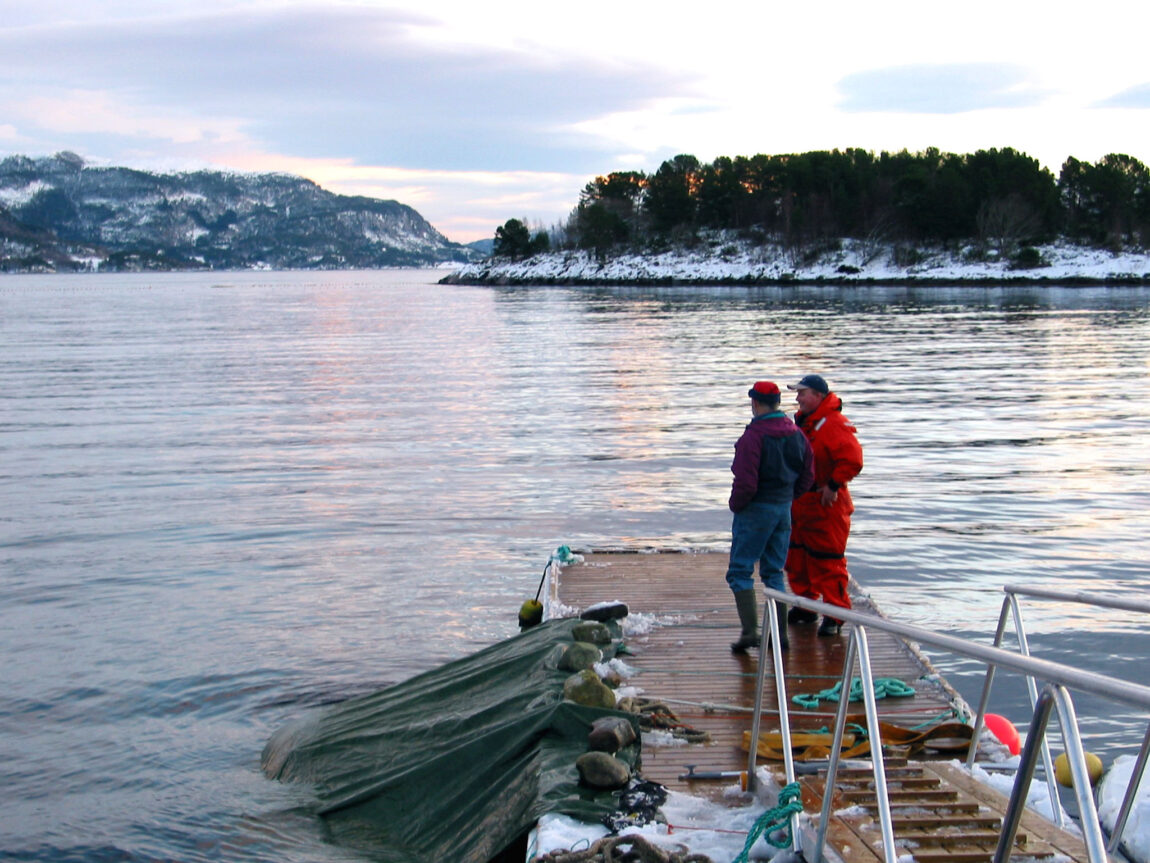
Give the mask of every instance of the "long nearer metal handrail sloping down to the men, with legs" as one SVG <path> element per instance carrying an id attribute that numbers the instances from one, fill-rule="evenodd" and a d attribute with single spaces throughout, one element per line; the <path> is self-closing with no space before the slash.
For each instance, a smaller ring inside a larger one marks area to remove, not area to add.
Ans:
<path id="1" fill-rule="evenodd" d="M 827 793 L 823 795 L 823 811 L 820 819 L 815 847 L 813 849 L 814 853 L 811 860 L 815 863 L 819 863 L 819 861 L 822 860 L 827 823 L 830 816 L 829 791 L 834 787 L 835 777 L 837 774 L 838 756 L 842 748 L 842 735 L 845 727 L 850 682 L 853 675 L 854 662 L 858 659 L 860 673 L 864 679 L 862 701 L 866 708 L 867 723 L 871 730 L 871 762 L 874 770 L 875 791 L 879 801 L 879 817 L 883 833 L 883 853 L 887 863 L 896 863 L 897 861 L 895 843 L 891 839 L 894 835 L 894 826 L 891 824 L 889 800 L 887 799 L 885 793 L 885 769 L 883 766 L 882 741 L 877 720 L 877 707 L 874 697 L 874 682 L 871 679 L 871 659 L 866 640 L 866 629 L 874 628 L 892 633 L 903 639 L 915 641 L 921 644 L 941 648 L 958 656 L 977 659 L 994 667 L 1000 666 L 1035 679 L 1041 678 L 1048 682 L 1048 689 L 1050 687 L 1055 687 L 1055 695 L 1048 695 L 1046 692 L 1044 692 L 1037 700 L 1038 703 L 1035 707 L 1035 715 L 1030 724 L 1030 734 L 1027 738 L 1022 764 L 1020 765 L 1019 774 L 1015 778 L 1014 792 L 1011 795 L 1011 803 L 1004 819 L 1003 831 L 1005 833 L 1006 827 L 1011 823 L 1013 823 L 1014 828 L 1017 828 L 1018 819 L 1021 818 L 1021 807 L 1025 805 L 1026 795 L 1029 791 L 1029 780 L 1033 774 L 1034 762 L 1037 757 L 1041 741 L 1044 739 L 1046 718 L 1049 718 L 1051 704 L 1053 704 L 1058 708 L 1059 724 L 1061 726 L 1067 757 L 1070 759 L 1071 776 L 1074 779 L 1075 791 L 1079 795 L 1079 807 L 1082 814 L 1083 841 L 1086 843 L 1087 854 L 1089 855 L 1091 863 L 1104 863 L 1106 860 L 1105 843 L 1102 838 L 1102 827 L 1098 824 L 1098 814 L 1094 804 L 1094 797 L 1089 792 L 1086 756 L 1082 750 L 1081 736 L 1078 730 L 1078 719 L 1074 715 L 1073 703 L 1070 700 L 1068 689 L 1073 688 L 1075 690 L 1090 693 L 1111 701 L 1117 701 L 1122 704 L 1150 711 L 1150 687 L 1116 680 L 1104 674 L 1082 671 L 1081 669 L 1074 669 L 1070 665 L 1063 665 L 1048 659 L 1040 659 L 1033 656 L 1021 656 L 1013 651 L 1004 650 L 1000 647 L 987 647 L 984 644 L 972 643 L 953 635 L 934 633 L 918 626 L 899 624 L 875 614 L 864 614 L 852 609 L 843 609 L 836 605 L 828 605 L 827 603 L 818 602 L 816 599 L 792 596 L 781 590 L 765 588 L 765 594 L 767 597 L 768 620 L 773 643 L 775 644 L 779 643 L 779 620 L 776 610 L 774 608 L 769 608 L 774 605 L 774 602 L 772 602 L 773 599 L 785 602 L 807 611 L 814 611 L 820 614 L 830 616 L 837 620 L 852 624 L 850 647 L 848 648 L 846 662 L 843 667 L 844 682 L 842 697 L 839 698 L 838 710 L 835 717 L 835 741 L 831 744 L 830 761 L 827 767 Z M 789 784 L 795 781 L 795 769 L 793 762 L 789 757 L 790 711 L 785 697 L 785 678 L 783 675 L 782 658 L 780 652 L 781 651 L 779 650 L 773 651 L 776 686 L 781 693 L 779 698 L 779 717 L 783 734 L 784 769 L 787 771 L 787 781 Z M 764 688 L 762 679 L 765 674 L 766 663 L 760 662 L 759 685 L 756 692 L 754 719 L 752 721 L 750 757 L 747 761 L 749 787 L 753 782 L 756 757 L 758 755 L 757 730 L 759 727 L 759 717 L 762 711 L 761 696 Z M 1044 716 L 1040 716 L 1041 711 L 1044 711 Z M 973 746 L 974 741 L 972 741 L 972 748 Z M 1023 765 L 1027 765 L 1028 770 L 1023 770 Z M 798 837 L 797 831 L 792 831 L 792 834 L 796 838 Z M 1011 835 L 1011 843 L 1012 842 L 1013 835 Z M 1005 848 L 1009 851 L 1010 843 L 1007 843 Z M 1005 856 L 1000 856 L 1000 854 L 996 853 L 995 863 L 1002 863 L 1002 861 L 1005 860 Z"/>

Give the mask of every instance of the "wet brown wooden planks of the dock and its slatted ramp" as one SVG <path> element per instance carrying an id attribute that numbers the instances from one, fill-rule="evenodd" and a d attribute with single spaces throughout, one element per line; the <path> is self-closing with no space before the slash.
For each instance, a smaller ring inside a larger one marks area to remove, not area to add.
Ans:
<path id="1" fill-rule="evenodd" d="M 636 674 L 626 683 L 638 687 L 644 698 L 666 703 L 688 733 L 704 732 L 708 739 L 703 743 L 644 746 L 643 778 L 718 802 L 730 800 L 724 787 L 737 779 L 684 777 L 692 765 L 695 773 L 746 769 L 742 742 L 751 727 L 759 652 L 730 652 L 730 642 L 738 636 L 738 617 L 726 571 L 723 553 L 591 553 L 582 564 L 562 570 L 550 596 L 552 603 L 576 611 L 601 602 L 627 603 L 631 612 L 628 629 L 634 632 L 626 643 L 632 655 L 623 658 Z M 857 590 L 852 601 L 858 611 L 874 610 Z M 790 649 L 783 654 L 783 666 L 790 697 L 818 696 L 842 680 L 849 626 L 837 637 L 819 636 L 816 629 L 816 624 L 789 627 Z M 914 690 L 912 696 L 881 698 L 880 720 L 903 728 L 956 720 L 959 700 L 914 647 L 877 629 L 868 629 L 867 635 L 875 679 L 894 678 Z M 793 702 L 789 707 L 792 732 L 829 731 L 837 709 L 835 702 L 825 700 L 807 708 Z M 861 702 L 857 709 L 852 705 L 851 712 L 861 715 Z M 773 666 L 768 666 L 760 732 L 779 730 L 775 680 Z M 894 758 L 888 757 L 899 853 L 930 863 L 990 861 L 1006 799 L 948 763 L 961 756 L 945 750 L 945 743 L 938 741 L 940 749 L 918 749 L 913 762 L 899 761 L 897 750 L 890 753 Z M 781 762 L 760 759 L 759 764 L 773 769 L 777 785 L 785 781 Z M 839 769 L 835 815 L 828 826 L 828 858 L 837 856 L 844 863 L 883 860 L 871 777 L 868 766 Z M 804 811 L 816 817 L 826 791 L 825 772 L 800 776 L 800 785 Z M 807 846 L 812 838 L 813 833 Z M 1013 856 L 1042 860 L 1055 855 L 1087 860 L 1080 839 L 1028 811 Z"/>

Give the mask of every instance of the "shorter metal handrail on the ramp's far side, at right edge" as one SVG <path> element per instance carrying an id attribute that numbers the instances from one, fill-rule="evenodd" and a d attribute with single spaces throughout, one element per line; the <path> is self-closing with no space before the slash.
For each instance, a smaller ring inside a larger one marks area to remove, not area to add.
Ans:
<path id="1" fill-rule="evenodd" d="M 1145 599 L 1128 597 L 1112 598 L 1088 594 L 1082 590 L 1058 590 L 1055 588 L 1032 587 L 1029 585 L 1006 585 L 1003 587 L 1003 591 L 1006 596 L 1003 598 L 1003 606 L 998 614 L 998 627 L 995 631 L 994 643 L 995 647 L 1000 647 L 1002 644 L 1003 634 L 1006 627 L 1006 610 L 1010 609 L 1011 614 L 1014 618 L 1014 634 L 1018 639 L 1019 652 L 1023 656 L 1030 656 L 1030 644 L 1027 640 L 1026 627 L 1022 624 L 1022 610 L 1018 604 L 1019 596 L 1037 599 L 1056 599 L 1058 602 L 1076 602 L 1082 605 L 1091 605 L 1094 608 L 1135 611 L 1138 613 L 1150 614 L 1150 602 L 1147 602 Z M 994 683 L 994 678 L 995 666 L 988 665 L 987 678 L 982 685 L 982 696 L 979 701 L 979 710 L 975 716 L 974 739 L 971 744 L 971 753 L 967 755 L 966 759 L 967 766 L 971 766 L 974 763 L 975 747 L 977 746 L 979 738 L 982 734 L 983 717 L 986 716 L 986 709 L 990 701 L 990 688 Z M 1030 695 L 1030 707 L 1036 710 L 1038 695 L 1035 679 L 1027 675 L 1026 683 Z M 1130 773 L 1130 781 L 1126 786 L 1126 794 L 1122 797 L 1122 804 L 1118 810 L 1118 817 L 1114 820 L 1114 828 L 1110 834 L 1110 842 L 1106 846 L 1107 851 L 1114 851 L 1122 840 L 1122 833 L 1126 831 L 1126 822 L 1129 817 L 1130 809 L 1134 805 L 1134 799 L 1137 794 L 1138 784 L 1142 780 L 1142 774 L 1145 772 L 1148 755 L 1150 755 L 1150 725 L 1147 726 L 1145 735 L 1142 739 L 1142 748 L 1138 751 L 1134 770 Z M 1048 746 L 1044 735 L 1042 738 L 1042 758 L 1046 769 L 1046 787 L 1050 794 L 1051 808 L 1053 809 L 1058 826 L 1061 826 L 1063 811 L 1061 807 L 1058 804 L 1058 788 L 1055 785 L 1055 771 L 1050 758 L 1050 747 Z"/>

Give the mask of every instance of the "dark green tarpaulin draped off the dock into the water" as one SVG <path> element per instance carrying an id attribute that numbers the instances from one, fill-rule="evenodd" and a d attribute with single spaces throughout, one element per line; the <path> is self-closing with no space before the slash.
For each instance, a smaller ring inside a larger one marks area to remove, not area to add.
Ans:
<path id="1" fill-rule="evenodd" d="M 558 660 L 578 620 L 554 620 L 281 728 L 274 779 L 313 782 L 335 841 L 386 863 L 484 863 L 546 812 L 599 820 L 581 787 L 591 723 L 627 716 L 562 698 Z M 634 762 L 638 746 L 620 757 Z"/>

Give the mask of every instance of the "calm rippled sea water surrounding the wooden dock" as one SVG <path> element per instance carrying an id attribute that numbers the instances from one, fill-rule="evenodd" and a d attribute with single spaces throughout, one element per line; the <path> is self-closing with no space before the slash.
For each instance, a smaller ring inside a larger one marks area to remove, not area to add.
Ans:
<path id="1" fill-rule="evenodd" d="M 438 275 L 0 278 L 0 856 L 354 860 L 269 734 L 513 634 L 561 543 L 724 550 L 758 379 L 844 398 L 889 614 L 988 641 L 1003 583 L 1147 595 L 1145 289 Z M 1026 613 L 1144 678 L 1150 621 Z M 1029 715 L 1009 675 L 991 707 Z M 1136 749 L 1145 717 L 1078 707 Z"/>

